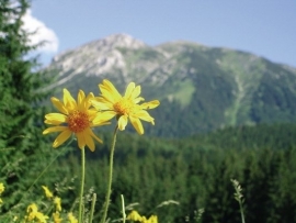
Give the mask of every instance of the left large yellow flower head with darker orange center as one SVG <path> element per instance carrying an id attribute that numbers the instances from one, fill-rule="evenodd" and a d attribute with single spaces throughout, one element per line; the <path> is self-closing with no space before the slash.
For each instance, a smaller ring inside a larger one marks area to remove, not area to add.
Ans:
<path id="1" fill-rule="evenodd" d="M 79 148 L 87 145 L 93 152 L 93 138 L 102 143 L 91 127 L 109 124 L 106 121 L 110 118 L 91 108 L 90 99 L 93 98 L 93 93 L 86 97 L 84 92 L 80 90 L 76 101 L 67 89 L 64 89 L 64 102 L 55 97 L 52 98 L 53 104 L 60 113 L 45 115 L 45 123 L 56 126 L 46 129 L 43 134 L 61 132 L 53 144 L 55 148 L 65 143 L 71 134 L 76 135 Z"/>

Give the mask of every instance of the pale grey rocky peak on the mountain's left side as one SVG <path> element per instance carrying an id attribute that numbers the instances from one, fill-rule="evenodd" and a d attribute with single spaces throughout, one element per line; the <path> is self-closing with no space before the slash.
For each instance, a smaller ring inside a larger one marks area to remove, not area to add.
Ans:
<path id="1" fill-rule="evenodd" d="M 114 34 L 96 40 L 57 55 L 50 67 L 62 74 L 70 74 L 59 80 L 62 83 L 73 76 L 84 73 L 86 76 L 100 76 L 113 68 L 124 69 L 126 64 L 118 47 L 137 49 L 147 45 L 127 34 Z"/>

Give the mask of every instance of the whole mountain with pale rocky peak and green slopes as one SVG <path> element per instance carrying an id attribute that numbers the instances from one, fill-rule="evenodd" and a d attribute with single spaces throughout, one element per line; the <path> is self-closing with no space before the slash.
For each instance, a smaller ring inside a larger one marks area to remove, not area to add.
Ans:
<path id="1" fill-rule="evenodd" d="M 253 54 L 177 41 L 149 46 L 115 34 L 57 55 L 48 88 L 99 93 L 107 78 L 123 92 L 141 85 L 156 126 L 146 134 L 181 137 L 226 126 L 296 122 L 296 69 Z M 61 91 L 61 90 L 59 90 Z"/>

